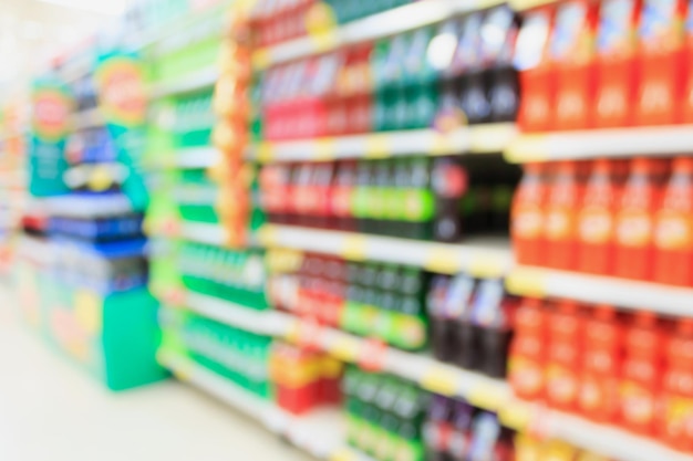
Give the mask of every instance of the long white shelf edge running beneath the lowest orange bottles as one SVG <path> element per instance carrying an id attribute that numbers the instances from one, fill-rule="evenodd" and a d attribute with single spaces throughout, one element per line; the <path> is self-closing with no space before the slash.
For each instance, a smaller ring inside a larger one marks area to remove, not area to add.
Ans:
<path id="1" fill-rule="evenodd" d="M 368 339 L 348 333 L 317 327 L 289 314 L 255 311 L 228 301 L 187 293 L 187 307 L 200 315 L 256 334 L 283 337 L 310 344 L 349 363 L 373 359 Z M 423 354 L 386 347 L 379 358 L 383 371 L 418 383 L 422 388 L 467 399 L 478 408 L 497 411 L 505 426 L 570 442 L 603 455 L 628 461 L 693 461 L 692 455 L 616 427 L 598 425 L 583 418 L 547 409 L 542 405 L 518 400 L 509 386 L 499 379 L 442 364 Z"/>

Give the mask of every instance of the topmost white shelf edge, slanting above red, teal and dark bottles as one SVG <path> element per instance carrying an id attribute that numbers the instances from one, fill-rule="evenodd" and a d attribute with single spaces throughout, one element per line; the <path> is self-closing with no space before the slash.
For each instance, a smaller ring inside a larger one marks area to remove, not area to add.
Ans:
<path id="1" fill-rule="evenodd" d="M 332 31 L 290 40 L 257 51 L 254 65 L 266 69 L 271 65 L 406 32 L 435 24 L 456 14 L 500 4 L 498 0 L 427 0 L 413 2 L 365 19 L 350 22 Z"/>

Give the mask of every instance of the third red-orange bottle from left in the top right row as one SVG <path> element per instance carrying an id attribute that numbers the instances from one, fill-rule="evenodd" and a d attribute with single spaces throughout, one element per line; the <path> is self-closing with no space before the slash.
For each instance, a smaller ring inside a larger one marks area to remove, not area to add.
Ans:
<path id="1" fill-rule="evenodd" d="M 604 0 L 597 32 L 597 95 L 592 105 L 594 126 L 633 123 L 638 90 L 635 52 L 640 0 Z"/>

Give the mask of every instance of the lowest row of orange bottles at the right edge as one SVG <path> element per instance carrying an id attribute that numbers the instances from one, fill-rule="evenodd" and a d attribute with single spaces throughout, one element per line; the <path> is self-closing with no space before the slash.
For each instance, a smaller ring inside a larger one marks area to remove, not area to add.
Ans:
<path id="1" fill-rule="evenodd" d="M 526 298 L 509 380 L 524 399 L 693 452 L 693 322 Z"/>

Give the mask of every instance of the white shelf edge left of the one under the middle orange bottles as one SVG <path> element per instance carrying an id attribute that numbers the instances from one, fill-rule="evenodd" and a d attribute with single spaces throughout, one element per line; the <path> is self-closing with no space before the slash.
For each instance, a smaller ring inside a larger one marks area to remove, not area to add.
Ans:
<path id="1" fill-rule="evenodd" d="M 504 276 L 513 265 L 507 239 L 468 239 L 465 243 L 379 237 L 293 226 L 267 224 L 258 239 L 263 247 L 334 254 L 350 261 L 373 260 L 424 268 L 431 272 L 466 272 L 478 277 Z"/>

